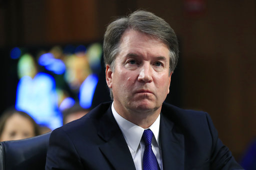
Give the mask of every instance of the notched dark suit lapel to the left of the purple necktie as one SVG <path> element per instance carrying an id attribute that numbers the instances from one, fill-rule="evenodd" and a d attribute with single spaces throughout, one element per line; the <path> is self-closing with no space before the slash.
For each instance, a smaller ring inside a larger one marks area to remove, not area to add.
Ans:
<path id="1" fill-rule="evenodd" d="M 105 141 L 100 151 L 116 170 L 135 170 L 130 151 L 111 112 L 111 107 L 101 119 L 98 135 Z"/>

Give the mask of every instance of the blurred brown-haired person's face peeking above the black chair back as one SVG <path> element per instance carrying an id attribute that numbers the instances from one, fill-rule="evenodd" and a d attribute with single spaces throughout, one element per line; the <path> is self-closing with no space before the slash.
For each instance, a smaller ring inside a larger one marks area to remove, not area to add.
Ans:
<path id="1" fill-rule="evenodd" d="M 0 141 L 12 141 L 40 135 L 39 126 L 25 112 L 10 108 L 0 117 Z"/>

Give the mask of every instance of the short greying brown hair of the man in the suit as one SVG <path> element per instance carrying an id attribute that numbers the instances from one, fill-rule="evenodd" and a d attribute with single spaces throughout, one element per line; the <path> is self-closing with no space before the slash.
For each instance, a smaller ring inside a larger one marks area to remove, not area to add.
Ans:
<path id="1" fill-rule="evenodd" d="M 155 14 L 136 10 L 127 16 L 112 21 L 106 28 L 103 42 L 104 63 L 114 70 L 115 57 L 119 52 L 120 38 L 128 28 L 158 38 L 169 49 L 169 74 L 174 71 L 178 61 L 178 41 L 170 25 Z M 112 89 L 109 88 L 110 97 Z"/>

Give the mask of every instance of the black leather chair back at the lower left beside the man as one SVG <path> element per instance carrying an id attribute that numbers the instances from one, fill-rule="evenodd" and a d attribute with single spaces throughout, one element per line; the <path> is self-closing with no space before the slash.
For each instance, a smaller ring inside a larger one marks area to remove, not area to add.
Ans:
<path id="1" fill-rule="evenodd" d="M 0 170 L 44 170 L 50 133 L 0 142 Z"/>

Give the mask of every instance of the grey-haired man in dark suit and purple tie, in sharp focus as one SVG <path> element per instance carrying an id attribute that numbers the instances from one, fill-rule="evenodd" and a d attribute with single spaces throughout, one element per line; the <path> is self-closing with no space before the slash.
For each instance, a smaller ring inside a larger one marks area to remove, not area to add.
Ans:
<path id="1" fill-rule="evenodd" d="M 51 133 L 46 170 L 240 170 L 207 113 L 163 101 L 177 63 L 174 31 L 138 10 L 104 35 L 111 103 Z"/>

